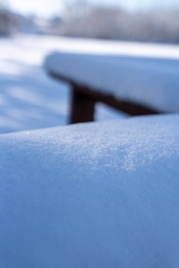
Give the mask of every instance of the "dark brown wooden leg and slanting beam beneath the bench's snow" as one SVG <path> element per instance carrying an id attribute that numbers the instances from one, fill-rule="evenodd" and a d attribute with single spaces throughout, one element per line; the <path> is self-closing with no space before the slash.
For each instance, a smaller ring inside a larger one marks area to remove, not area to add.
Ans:
<path id="1" fill-rule="evenodd" d="M 164 114 L 162 111 L 157 111 L 148 106 L 137 104 L 135 102 L 116 99 L 115 96 L 101 92 L 98 88 L 91 89 L 79 83 L 74 83 L 74 80 L 65 78 L 62 75 L 50 72 L 50 75 L 57 79 L 69 83 L 72 88 L 71 96 L 71 114 L 69 123 L 89 122 L 94 119 L 96 102 L 103 102 L 119 111 L 123 111 L 130 116 L 142 116 L 149 114 Z M 119 85 L 120 87 L 120 85 Z"/>

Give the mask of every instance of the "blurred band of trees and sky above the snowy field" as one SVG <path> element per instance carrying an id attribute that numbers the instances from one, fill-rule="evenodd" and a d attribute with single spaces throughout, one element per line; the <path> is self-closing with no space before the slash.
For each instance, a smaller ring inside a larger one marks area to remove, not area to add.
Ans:
<path id="1" fill-rule="evenodd" d="M 0 34 L 179 42 L 178 0 L 1 0 Z"/>

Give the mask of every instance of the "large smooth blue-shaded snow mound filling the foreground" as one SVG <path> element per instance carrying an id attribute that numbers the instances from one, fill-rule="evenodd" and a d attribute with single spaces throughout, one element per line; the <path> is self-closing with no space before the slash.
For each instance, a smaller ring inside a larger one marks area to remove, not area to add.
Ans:
<path id="1" fill-rule="evenodd" d="M 0 266 L 178 268 L 179 116 L 0 135 Z"/>

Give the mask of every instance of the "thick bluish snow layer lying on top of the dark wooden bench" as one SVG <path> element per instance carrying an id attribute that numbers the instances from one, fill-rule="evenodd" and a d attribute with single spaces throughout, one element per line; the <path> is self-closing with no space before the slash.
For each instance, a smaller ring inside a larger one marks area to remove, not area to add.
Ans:
<path id="1" fill-rule="evenodd" d="M 179 112 L 178 56 L 179 47 L 133 44 L 128 50 L 123 46 L 123 51 L 120 46 L 117 54 L 109 46 L 105 54 L 54 52 L 47 56 L 45 68 L 119 99 Z"/>

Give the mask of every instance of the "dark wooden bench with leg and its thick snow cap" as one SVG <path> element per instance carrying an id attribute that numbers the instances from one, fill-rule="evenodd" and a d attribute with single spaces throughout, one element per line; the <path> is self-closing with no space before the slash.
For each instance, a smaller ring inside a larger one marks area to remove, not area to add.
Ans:
<path id="1" fill-rule="evenodd" d="M 93 121 L 96 102 L 130 115 L 179 112 L 179 61 L 168 55 L 54 52 L 45 68 L 73 88 L 71 123 Z"/>

